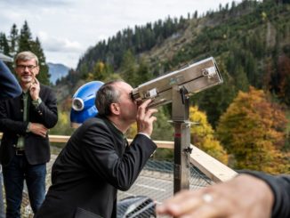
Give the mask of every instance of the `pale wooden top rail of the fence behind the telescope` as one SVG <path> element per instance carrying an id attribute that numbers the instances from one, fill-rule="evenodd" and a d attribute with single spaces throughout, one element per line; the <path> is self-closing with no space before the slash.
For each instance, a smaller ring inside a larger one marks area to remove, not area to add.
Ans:
<path id="1" fill-rule="evenodd" d="M 68 135 L 49 135 L 51 142 L 62 142 L 68 141 L 70 136 Z M 2 138 L 2 133 L 0 133 L 0 139 Z M 128 140 L 129 143 L 132 140 Z M 154 141 L 157 144 L 157 148 L 161 149 L 174 149 L 173 141 Z M 203 172 L 208 178 L 213 180 L 213 182 L 225 182 L 230 180 L 232 177 L 236 176 L 237 173 L 230 169 L 229 166 L 223 165 L 217 159 L 209 156 L 201 149 L 196 146 L 191 145 L 192 152 L 190 154 L 190 162 L 194 166 Z"/>

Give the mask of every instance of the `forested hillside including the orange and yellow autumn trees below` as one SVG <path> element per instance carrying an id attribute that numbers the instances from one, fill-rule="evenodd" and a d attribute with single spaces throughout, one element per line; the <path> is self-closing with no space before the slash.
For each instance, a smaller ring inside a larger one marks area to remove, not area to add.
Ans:
<path id="1" fill-rule="evenodd" d="M 89 48 L 57 86 L 76 90 L 119 77 L 137 86 L 213 56 L 224 83 L 190 98 L 198 107 L 190 117 L 200 124 L 192 126 L 191 142 L 234 168 L 290 172 L 289 20 L 289 1 L 243 1 L 126 28 Z M 169 112 L 170 106 L 160 109 L 154 139 L 173 140 Z"/>

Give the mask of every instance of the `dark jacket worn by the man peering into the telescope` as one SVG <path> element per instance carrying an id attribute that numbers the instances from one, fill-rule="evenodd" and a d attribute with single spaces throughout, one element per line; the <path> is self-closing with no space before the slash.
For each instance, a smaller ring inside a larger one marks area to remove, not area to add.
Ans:
<path id="1" fill-rule="evenodd" d="M 117 190 L 128 190 L 157 148 L 123 133 L 104 117 L 78 127 L 52 166 L 52 186 L 37 218 L 116 217 Z"/>

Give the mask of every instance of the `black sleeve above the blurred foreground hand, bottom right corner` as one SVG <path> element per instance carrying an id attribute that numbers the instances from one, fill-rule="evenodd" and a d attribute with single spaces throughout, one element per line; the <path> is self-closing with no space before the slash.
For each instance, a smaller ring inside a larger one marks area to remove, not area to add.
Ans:
<path id="1" fill-rule="evenodd" d="M 274 194 L 274 205 L 272 207 L 272 218 L 290 217 L 290 175 L 270 175 L 261 172 L 243 171 L 266 182 Z"/>

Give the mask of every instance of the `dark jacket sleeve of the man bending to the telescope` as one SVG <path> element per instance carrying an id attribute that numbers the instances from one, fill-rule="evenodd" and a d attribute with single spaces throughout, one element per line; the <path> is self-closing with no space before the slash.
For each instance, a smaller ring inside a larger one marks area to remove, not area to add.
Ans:
<path id="1" fill-rule="evenodd" d="M 95 174 L 118 190 L 128 190 L 157 146 L 137 134 L 120 157 L 116 148 L 123 145 L 113 137 L 105 125 L 92 125 L 83 135 L 81 152 Z"/>

